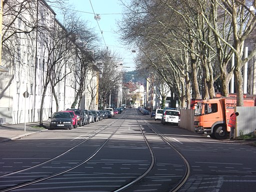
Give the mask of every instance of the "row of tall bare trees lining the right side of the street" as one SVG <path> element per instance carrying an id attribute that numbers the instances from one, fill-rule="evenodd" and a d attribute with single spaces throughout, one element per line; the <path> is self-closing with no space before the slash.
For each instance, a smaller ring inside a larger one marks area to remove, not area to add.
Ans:
<path id="1" fill-rule="evenodd" d="M 256 26 L 254 7 L 255 0 L 131 0 L 119 30 L 138 47 L 137 68 L 156 73 L 182 107 L 216 90 L 228 96 L 232 75 L 242 106 L 242 67 L 256 53 L 254 47 L 243 55 Z"/>

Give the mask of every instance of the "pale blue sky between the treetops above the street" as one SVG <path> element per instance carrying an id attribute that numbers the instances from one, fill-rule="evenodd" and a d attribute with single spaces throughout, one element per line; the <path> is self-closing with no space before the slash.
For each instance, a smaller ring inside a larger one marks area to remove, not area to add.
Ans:
<path id="1" fill-rule="evenodd" d="M 136 53 L 131 49 L 120 44 L 117 30 L 117 19 L 122 18 L 122 6 L 119 0 L 69 0 L 72 9 L 77 10 L 77 14 L 84 20 L 87 20 L 89 27 L 95 29 L 100 39 L 99 45 L 106 46 L 112 52 L 119 54 L 122 58 L 123 69 L 126 71 L 135 70 L 133 58 Z M 100 15 L 100 20 L 94 19 L 94 13 Z M 102 31 L 102 34 L 101 34 Z M 129 67 L 129 68 L 128 68 Z"/>

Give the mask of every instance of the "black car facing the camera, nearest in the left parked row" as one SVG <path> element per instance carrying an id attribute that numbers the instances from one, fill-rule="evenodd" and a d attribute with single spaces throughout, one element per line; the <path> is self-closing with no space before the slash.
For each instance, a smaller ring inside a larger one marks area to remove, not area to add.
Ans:
<path id="1" fill-rule="evenodd" d="M 72 129 L 73 121 L 69 112 L 54 112 L 50 118 L 49 129 L 66 128 Z"/>

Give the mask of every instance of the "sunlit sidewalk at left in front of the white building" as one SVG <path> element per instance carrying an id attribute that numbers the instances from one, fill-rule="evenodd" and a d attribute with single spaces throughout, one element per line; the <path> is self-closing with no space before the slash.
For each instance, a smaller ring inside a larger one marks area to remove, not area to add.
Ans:
<path id="1" fill-rule="evenodd" d="M 46 128 L 39 127 L 39 122 L 26 122 L 20 124 L 0 124 L 0 142 L 14 140 L 29 134 L 47 130 L 49 121 L 43 121 Z"/>

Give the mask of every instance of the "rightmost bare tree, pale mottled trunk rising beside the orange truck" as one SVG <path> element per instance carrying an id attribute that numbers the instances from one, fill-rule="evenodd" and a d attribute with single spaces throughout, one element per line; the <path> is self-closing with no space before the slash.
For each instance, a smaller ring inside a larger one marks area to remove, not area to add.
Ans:
<path id="1" fill-rule="evenodd" d="M 248 4 L 248 3 L 251 4 Z M 215 34 L 216 39 L 219 41 L 218 45 L 223 43 L 224 47 L 229 47 L 229 52 L 227 52 L 225 57 L 223 59 L 223 64 L 220 67 L 220 71 L 222 72 L 222 84 L 224 84 L 225 87 L 227 87 L 227 81 L 231 77 L 231 73 L 226 73 L 226 62 L 230 59 L 231 54 L 234 53 L 235 55 L 235 64 L 234 68 L 231 68 L 230 71 L 233 70 L 234 77 L 235 77 L 235 87 L 237 92 L 237 105 L 242 106 L 243 105 L 243 78 L 241 74 L 241 68 L 242 66 L 250 60 L 253 56 L 256 54 L 256 47 L 249 53 L 249 55 L 246 58 L 243 58 L 243 48 L 244 48 L 244 41 L 246 38 L 249 37 L 249 34 L 255 29 L 256 26 L 256 16 L 255 12 L 250 10 L 250 5 L 254 5 L 255 7 L 255 0 L 251 0 L 246 3 L 245 0 L 211 0 L 211 6 L 214 10 L 214 19 L 216 20 L 217 13 L 222 12 L 222 14 L 225 15 L 226 19 L 222 19 L 223 23 L 226 23 L 225 21 L 228 20 L 228 30 L 226 33 L 219 32 L 219 28 L 217 28 L 216 22 L 213 24 L 209 22 L 209 19 L 205 15 L 204 11 L 201 12 L 201 15 L 204 17 L 204 20 L 206 23 L 210 26 L 212 31 Z M 223 26 L 226 26 L 223 24 Z M 222 27 L 224 29 L 224 27 Z M 226 34 L 223 36 L 222 34 Z M 229 37 L 230 35 L 230 37 Z M 232 35 L 232 36 L 231 36 Z M 229 38 L 227 38 L 228 36 Z M 231 39 L 231 40 L 229 40 Z M 223 54 L 225 52 L 220 52 L 221 49 L 219 48 L 219 54 Z M 229 81 L 228 81 L 229 82 Z M 225 84 L 226 83 L 226 84 Z M 223 88 L 225 88 L 223 87 Z M 226 94 L 223 92 L 223 94 Z"/>

